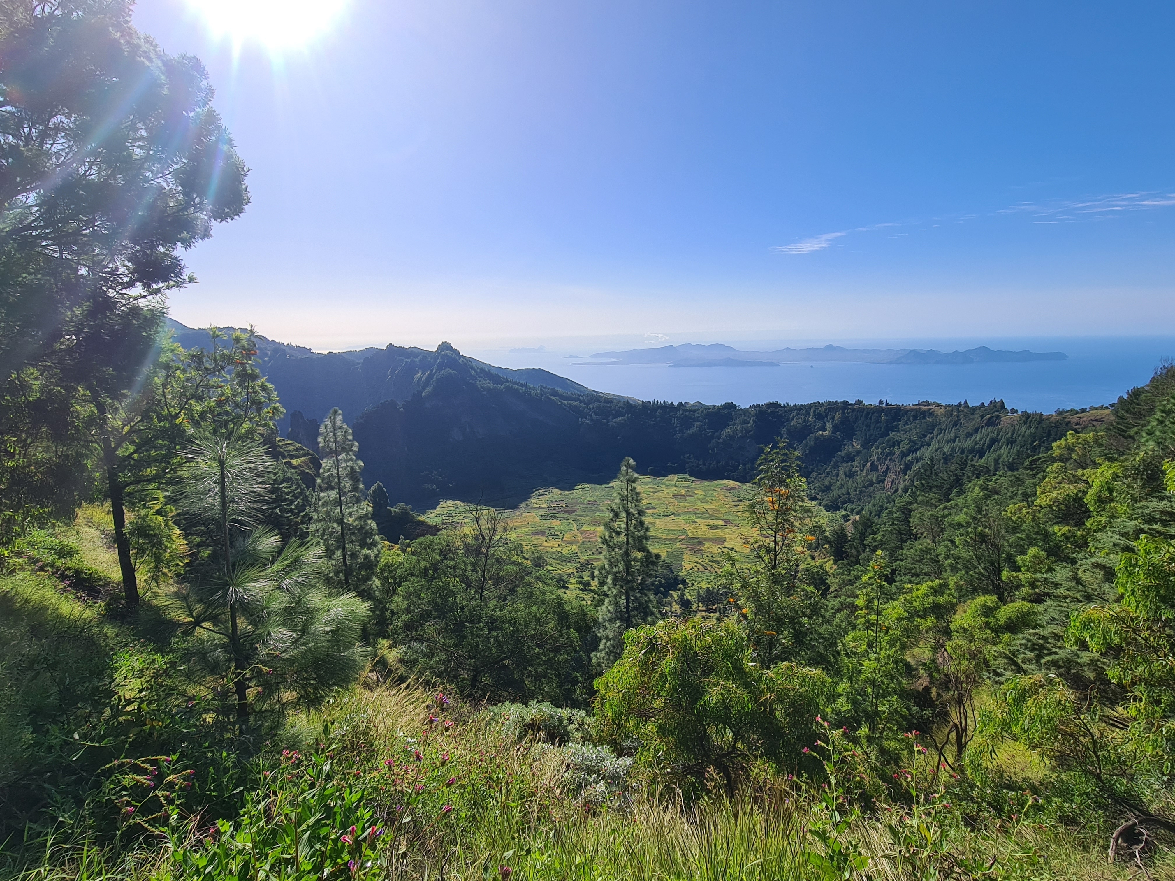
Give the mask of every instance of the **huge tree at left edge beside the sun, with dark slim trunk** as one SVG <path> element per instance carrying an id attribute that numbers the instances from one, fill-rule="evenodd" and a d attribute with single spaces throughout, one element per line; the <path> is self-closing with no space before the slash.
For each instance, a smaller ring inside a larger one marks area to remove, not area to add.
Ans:
<path id="1" fill-rule="evenodd" d="M 70 504 L 95 448 L 109 476 L 110 422 L 155 358 L 162 295 L 192 281 L 180 249 L 248 203 L 203 67 L 160 52 L 130 11 L 0 9 L 0 489 L 15 518 Z"/>

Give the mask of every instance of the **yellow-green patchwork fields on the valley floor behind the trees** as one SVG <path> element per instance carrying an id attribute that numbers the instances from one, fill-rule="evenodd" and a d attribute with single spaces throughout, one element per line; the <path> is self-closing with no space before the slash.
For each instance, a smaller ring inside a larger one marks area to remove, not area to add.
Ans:
<path id="1" fill-rule="evenodd" d="M 744 553 L 739 499 L 743 484 L 697 480 L 686 475 L 640 477 L 652 549 L 693 583 L 705 583 L 720 566 L 720 551 Z M 510 512 L 511 531 L 530 553 L 568 577 L 586 574 L 599 560 L 599 531 L 607 518 L 611 484 L 579 484 L 573 490 L 544 489 Z M 457 526 L 464 506 L 442 502 L 424 517 Z"/>

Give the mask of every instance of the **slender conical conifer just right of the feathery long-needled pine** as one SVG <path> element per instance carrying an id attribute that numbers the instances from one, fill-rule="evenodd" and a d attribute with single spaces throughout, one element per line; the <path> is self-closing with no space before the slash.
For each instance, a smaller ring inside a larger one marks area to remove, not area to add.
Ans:
<path id="1" fill-rule="evenodd" d="M 362 594 L 380 563 L 380 532 L 363 491 L 358 449 L 336 406 L 318 430 L 322 470 L 311 533 L 325 551 L 331 584 Z"/>

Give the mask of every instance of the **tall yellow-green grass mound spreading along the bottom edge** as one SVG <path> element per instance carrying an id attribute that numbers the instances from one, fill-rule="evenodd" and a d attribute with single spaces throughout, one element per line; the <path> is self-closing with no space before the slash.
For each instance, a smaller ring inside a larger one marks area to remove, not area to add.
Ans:
<path id="1" fill-rule="evenodd" d="M 1099 836 L 1059 828 L 1043 818 L 968 827 L 958 816 L 929 813 L 914 820 L 895 819 L 906 811 L 895 802 L 895 812 L 887 813 L 882 805 L 874 814 L 850 816 L 838 825 L 818 786 L 778 778 L 760 778 L 732 799 L 716 793 L 686 803 L 672 792 L 658 792 L 652 778 L 638 776 L 625 798 L 590 807 L 569 788 L 565 749 L 535 740 L 516 741 L 505 733 L 501 717 L 482 713 L 476 706 L 445 707 L 442 718 L 456 720 L 454 726 L 429 728 L 428 717 L 438 712 L 431 698 L 411 684 L 356 687 L 324 713 L 291 727 L 287 732 L 291 748 L 304 740 L 307 755 L 316 752 L 333 762 L 336 788 L 317 801 L 307 789 L 303 801 L 288 798 L 290 785 L 282 781 L 293 779 L 287 772 L 297 773 L 296 762 L 271 764 L 275 774 L 250 796 L 251 815 L 246 809 L 233 827 L 222 826 L 215 839 L 186 832 L 200 826 L 196 822 L 176 827 L 175 833 L 156 838 L 154 845 L 145 840 L 136 849 L 119 852 L 85 839 L 72 841 L 60 832 L 45 842 L 43 859 L 7 877 L 1175 879 L 1169 852 L 1152 856 L 1146 875 L 1122 862 L 1109 866 Z M 333 733 L 320 748 L 314 741 L 322 737 L 323 722 L 329 722 Z M 412 748 L 422 752 L 418 765 L 405 759 Z M 398 769 L 388 771 L 385 756 L 403 759 Z M 418 796 L 410 795 L 410 785 L 400 791 L 391 785 L 405 768 L 421 768 L 418 779 L 427 788 Z M 441 780 L 450 774 L 455 784 Z M 396 802 L 408 798 L 417 800 L 410 802 L 408 812 L 397 814 Z M 444 812 L 442 803 L 455 809 Z M 301 873 L 294 869 L 289 843 L 280 843 L 281 828 L 289 826 L 295 805 L 303 816 L 317 818 L 311 827 L 300 830 L 302 853 L 321 847 L 321 853 L 334 854 Z M 387 834 L 370 846 L 340 845 L 351 822 L 338 813 L 340 805 L 365 818 L 354 823 L 361 830 L 371 823 Z M 414 816 L 401 822 L 409 812 Z M 193 855 L 217 848 L 239 860 L 231 863 L 230 873 L 193 868 Z M 837 854 L 859 860 L 864 868 L 846 874 L 844 868 L 830 867 Z M 348 856 L 358 858 L 354 870 L 345 867 Z"/>

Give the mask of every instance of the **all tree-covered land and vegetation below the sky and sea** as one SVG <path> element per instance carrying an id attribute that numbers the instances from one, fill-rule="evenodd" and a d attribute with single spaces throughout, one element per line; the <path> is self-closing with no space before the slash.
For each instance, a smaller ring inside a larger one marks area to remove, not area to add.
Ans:
<path id="1" fill-rule="evenodd" d="M 249 202 L 202 66 L 0 13 L 0 877 L 1175 876 L 1175 365 L 1043 416 L 180 345 Z M 731 482 L 705 578 L 642 471 Z M 551 565 L 503 502 L 578 479 Z"/>

